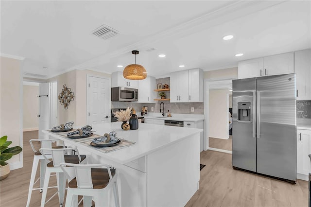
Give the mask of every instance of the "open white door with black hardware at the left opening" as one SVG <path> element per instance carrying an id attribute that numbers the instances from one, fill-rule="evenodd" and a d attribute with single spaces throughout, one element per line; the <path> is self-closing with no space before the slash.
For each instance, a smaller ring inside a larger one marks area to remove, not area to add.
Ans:
<path id="1" fill-rule="evenodd" d="M 50 129 L 50 83 L 39 84 L 39 139 L 49 139 L 42 130 Z"/>

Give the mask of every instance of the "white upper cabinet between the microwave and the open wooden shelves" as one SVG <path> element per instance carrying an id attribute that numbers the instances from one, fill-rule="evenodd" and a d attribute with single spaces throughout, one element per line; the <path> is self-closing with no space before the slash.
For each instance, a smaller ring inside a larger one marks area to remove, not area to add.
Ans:
<path id="1" fill-rule="evenodd" d="M 156 92 L 154 91 L 155 77 L 147 76 L 147 78 L 138 81 L 138 103 L 155 103 Z"/>

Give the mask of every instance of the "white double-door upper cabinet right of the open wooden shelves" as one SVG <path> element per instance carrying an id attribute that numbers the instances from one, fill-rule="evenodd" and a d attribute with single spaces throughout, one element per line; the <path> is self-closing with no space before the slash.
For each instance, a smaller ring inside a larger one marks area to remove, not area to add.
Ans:
<path id="1" fill-rule="evenodd" d="M 171 74 L 171 103 L 203 102 L 203 70 L 190 69 Z"/>

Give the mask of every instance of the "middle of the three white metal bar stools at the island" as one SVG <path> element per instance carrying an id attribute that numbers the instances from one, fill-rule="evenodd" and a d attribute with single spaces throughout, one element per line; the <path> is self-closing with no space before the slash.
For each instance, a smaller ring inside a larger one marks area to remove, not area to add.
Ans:
<path id="1" fill-rule="evenodd" d="M 65 152 L 67 150 L 75 150 L 77 155 L 65 155 Z M 59 164 L 62 162 L 68 162 L 68 163 L 74 163 L 74 164 L 86 163 L 86 155 L 80 155 L 77 148 L 64 148 L 64 149 L 41 148 L 39 151 L 44 156 L 46 162 L 48 162 L 46 166 L 45 176 L 44 176 L 41 207 L 44 207 L 44 205 L 47 202 L 49 202 L 56 195 L 56 193 L 58 193 L 59 206 L 62 207 L 64 203 L 64 197 L 65 197 L 66 177 L 65 177 L 63 170 L 59 167 Z M 48 152 L 52 153 L 51 162 L 48 156 L 46 156 Z M 47 202 L 45 202 L 51 173 L 56 173 L 57 192 L 53 194 L 52 197 L 49 198 Z M 72 173 L 74 172 L 73 172 L 73 169 L 71 168 L 71 171 L 69 174 L 72 174 Z"/>

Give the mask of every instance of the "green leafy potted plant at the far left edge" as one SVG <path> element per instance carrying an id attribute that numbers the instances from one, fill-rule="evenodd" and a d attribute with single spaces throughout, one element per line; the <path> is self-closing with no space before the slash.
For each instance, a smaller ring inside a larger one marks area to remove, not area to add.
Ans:
<path id="1" fill-rule="evenodd" d="M 0 180 L 5 179 L 10 173 L 10 165 L 5 161 L 11 159 L 13 155 L 17 155 L 22 151 L 22 148 L 19 146 L 8 148 L 8 146 L 12 144 L 12 141 L 7 141 L 7 138 L 8 136 L 0 138 Z"/>

